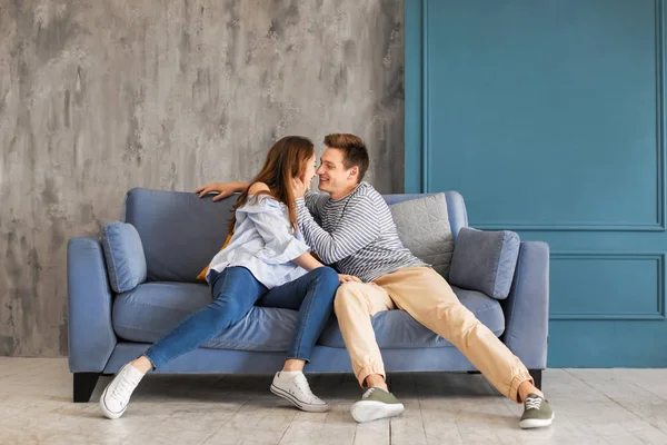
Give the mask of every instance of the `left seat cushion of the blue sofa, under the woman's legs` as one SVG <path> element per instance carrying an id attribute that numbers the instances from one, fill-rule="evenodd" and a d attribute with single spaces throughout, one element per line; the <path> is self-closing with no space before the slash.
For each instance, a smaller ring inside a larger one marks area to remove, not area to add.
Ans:
<path id="1" fill-rule="evenodd" d="M 146 283 L 116 296 L 113 330 L 126 340 L 155 343 L 211 300 L 210 288 L 206 285 Z M 246 318 L 203 347 L 287 352 L 296 323 L 295 310 L 253 307 Z"/>

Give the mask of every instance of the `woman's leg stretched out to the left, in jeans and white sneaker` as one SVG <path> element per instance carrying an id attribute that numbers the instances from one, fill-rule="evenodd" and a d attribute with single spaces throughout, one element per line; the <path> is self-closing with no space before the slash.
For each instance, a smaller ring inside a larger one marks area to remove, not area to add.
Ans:
<path id="1" fill-rule="evenodd" d="M 196 349 L 243 318 L 267 288 L 243 267 L 230 267 L 211 279 L 213 301 L 192 313 L 169 334 L 156 342 L 145 355 L 130 362 L 107 386 L 100 406 L 109 418 L 120 417 L 132 392 L 151 368 Z"/>

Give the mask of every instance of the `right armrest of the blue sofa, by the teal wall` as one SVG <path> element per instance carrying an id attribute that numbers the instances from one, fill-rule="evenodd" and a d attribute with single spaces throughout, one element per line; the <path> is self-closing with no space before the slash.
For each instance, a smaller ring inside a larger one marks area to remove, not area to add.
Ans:
<path id="1" fill-rule="evenodd" d="M 507 299 L 502 340 L 529 369 L 547 366 L 549 333 L 549 246 L 524 241 Z"/>

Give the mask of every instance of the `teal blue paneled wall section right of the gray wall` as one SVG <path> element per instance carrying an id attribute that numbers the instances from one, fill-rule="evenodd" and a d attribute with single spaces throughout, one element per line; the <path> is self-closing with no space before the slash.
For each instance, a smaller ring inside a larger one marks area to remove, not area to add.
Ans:
<path id="1" fill-rule="evenodd" d="M 664 21 L 660 0 L 406 1 L 406 191 L 549 243 L 549 366 L 667 366 Z"/>

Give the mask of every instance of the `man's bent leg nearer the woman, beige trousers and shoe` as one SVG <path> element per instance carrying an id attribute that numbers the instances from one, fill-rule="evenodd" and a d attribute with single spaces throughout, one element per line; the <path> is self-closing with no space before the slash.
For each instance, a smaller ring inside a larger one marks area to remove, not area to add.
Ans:
<path id="1" fill-rule="evenodd" d="M 350 409 L 357 422 L 397 416 L 404 406 L 385 383 L 385 365 L 370 317 L 395 307 L 389 295 L 374 284 L 345 283 L 338 288 L 334 308 L 361 387 L 369 389 Z"/>

